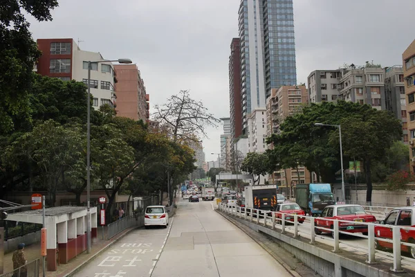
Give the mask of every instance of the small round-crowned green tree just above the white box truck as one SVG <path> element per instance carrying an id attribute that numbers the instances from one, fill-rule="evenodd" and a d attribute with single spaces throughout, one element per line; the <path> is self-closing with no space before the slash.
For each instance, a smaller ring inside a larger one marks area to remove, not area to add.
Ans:
<path id="1" fill-rule="evenodd" d="M 242 162 L 241 170 L 252 175 L 252 183 L 259 181 L 261 175 L 268 173 L 268 156 L 264 153 L 249 152 Z"/>

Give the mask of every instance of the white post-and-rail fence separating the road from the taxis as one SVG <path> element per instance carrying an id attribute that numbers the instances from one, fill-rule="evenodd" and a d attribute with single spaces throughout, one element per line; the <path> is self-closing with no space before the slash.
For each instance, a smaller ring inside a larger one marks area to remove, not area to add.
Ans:
<path id="1" fill-rule="evenodd" d="M 385 207 L 382 207 L 385 208 Z M 382 260 L 389 260 L 389 262 L 393 262 L 392 271 L 399 272 L 403 270 L 403 265 L 410 267 L 412 270 L 414 270 L 415 262 L 413 258 L 407 258 L 405 256 L 401 256 L 401 249 L 402 247 L 410 247 L 411 250 L 415 249 L 415 241 L 409 239 L 408 242 L 404 242 L 400 240 L 400 236 L 403 232 L 408 233 L 409 231 L 415 231 L 414 227 L 411 226 L 393 226 L 393 225 L 385 225 L 385 224 L 375 224 L 375 223 L 369 223 L 369 222 L 358 222 L 359 225 L 365 225 L 367 226 L 367 233 L 361 234 L 361 233 L 349 233 L 347 231 L 340 231 L 344 229 L 344 226 L 349 226 L 356 224 L 354 221 L 349 220 L 333 220 L 329 218 L 324 218 L 325 221 L 331 222 L 326 227 L 322 226 L 315 226 L 315 222 L 318 220 L 323 220 L 322 217 L 309 217 L 305 215 L 288 215 L 291 218 L 288 220 L 285 217 L 287 214 L 285 213 L 279 213 L 279 212 L 270 212 L 270 211 L 263 211 L 256 208 L 241 208 L 239 206 L 237 207 L 231 207 L 226 204 L 219 203 L 219 210 L 228 213 L 229 215 L 239 217 L 244 220 L 249 220 L 250 222 L 255 222 L 256 224 L 259 224 L 261 226 L 268 226 L 270 229 L 281 229 L 281 233 L 293 233 L 294 238 L 299 237 L 299 233 L 302 233 L 303 235 L 306 235 L 311 243 L 315 242 L 315 239 L 322 238 L 322 243 L 324 244 L 331 244 L 333 242 L 332 247 L 333 251 L 339 251 L 340 250 L 340 234 L 347 234 L 347 235 L 353 235 L 358 238 L 364 238 L 367 239 L 366 245 L 362 244 L 362 242 L 358 242 L 357 244 L 352 244 L 350 240 L 345 240 L 342 242 L 342 245 L 344 248 L 353 249 L 354 252 L 362 252 L 367 255 L 367 262 L 374 263 L 376 262 L 376 254 L 378 255 L 378 258 Z M 255 220 L 254 220 L 255 216 Z M 263 217 L 263 220 L 260 220 L 260 217 Z M 293 218 L 292 218 L 293 217 Z M 300 220 L 301 219 L 301 220 Z M 305 226 L 304 224 L 301 224 L 300 221 L 307 221 L 309 222 L 309 226 Z M 287 223 L 293 224 L 293 228 L 288 227 Z M 340 228 L 340 226 L 342 228 Z M 375 234 L 375 227 L 382 227 L 390 229 L 392 238 L 378 238 Z M 322 237 L 320 234 L 322 232 L 331 233 L 333 240 L 327 240 L 328 238 L 326 236 Z M 387 253 L 385 251 L 380 251 L 380 247 L 376 247 L 379 243 L 379 241 L 387 242 L 391 245 L 392 249 L 392 255 L 390 253 Z M 329 243 L 328 243 L 329 242 Z M 414 251 L 414 250 L 412 250 Z M 414 255 L 415 252 L 410 253 L 410 255 Z M 415 256 L 414 256 L 415 258 Z"/>

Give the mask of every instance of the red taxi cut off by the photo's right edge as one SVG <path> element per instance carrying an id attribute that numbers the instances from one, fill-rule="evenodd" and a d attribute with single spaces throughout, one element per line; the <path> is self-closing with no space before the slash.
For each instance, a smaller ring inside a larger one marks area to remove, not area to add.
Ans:
<path id="1" fill-rule="evenodd" d="M 403 208 L 394 208 L 389 214 L 385 217 L 385 220 L 382 220 L 380 224 L 385 224 L 389 226 L 375 226 L 375 237 L 376 238 L 387 238 L 392 239 L 392 229 L 391 226 L 402 226 L 402 227 L 415 227 L 415 207 L 403 207 Z M 406 253 L 409 253 L 412 258 L 415 258 L 415 230 L 405 230 L 400 229 L 400 241 L 412 243 L 412 247 L 407 245 L 400 244 L 400 250 Z M 392 242 L 382 242 L 380 240 L 375 240 L 376 249 L 392 249 Z"/>

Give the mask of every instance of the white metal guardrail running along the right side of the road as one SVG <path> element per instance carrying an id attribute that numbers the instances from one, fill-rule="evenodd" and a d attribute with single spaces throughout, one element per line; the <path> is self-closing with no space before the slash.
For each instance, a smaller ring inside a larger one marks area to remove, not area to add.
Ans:
<path id="1" fill-rule="evenodd" d="M 369 207 L 369 206 L 367 206 Z M 367 207 L 365 210 L 367 210 Z M 372 207 L 376 208 L 376 207 Z M 380 207 L 385 208 L 385 207 Z M 415 265 L 415 259 L 407 258 L 405 256 L 401 256 L 401 249 L 400 247 L 402 245 L 406 245 L 408 247 L 415 247 L 415 244 L 407 243 L 407 242 L 401 242 L 400 241 L 400 229 L 403 229 L 405 231 L 415 231 L 414 227 L 406 227 L 406 226 L 393 226 L 393 225 L 385 225 L 385 224 L 374 224 L 374 223 L 367 223 L 367 222 L 359 222 L 359 225 L 367 225 L 368 233 L 367 235 L 363 235 L 362 233 L 349 233 L 347 231 L 340 231 L 339 230 L 339 224 L 342 222 L 349 223 L 349 224 L 356 224 L 356 222 L 349 221 L 349 220 L 331 220 L 328 218 L 323 217 L 310 217 L 305 215 L 290 215 L 290 217 L 294 217 L 294 222 L 291 220 L 286 220 L 284 213 L 279 212 L 271 212 L 271 211 L 264 211 L 259 210 L 256 208 L 244 208 L 239 206 L 228 206 L 227 204 L 219 203 L 219 210 L 228 213 L 229 215 L 234 215 L 235 217 L 243 218 L 244 220 L 249 220 L 250 222 L 256 222 L 257 224 L 261 224 L 261 226 L 270 226 L 271 229 L 280 229 L 281 233 L 293 233 L 293 237 L 297 238 L 299 237 L 299 233 L 306 233 L 308 236 L 310 236 L 310 242 L 315 243 L 315 238 L 320 237 L 320 235 L 315 234 L 315 220 L 326 220 L 326 221 L 332 221 L 333 222 L 333 229 L 324 228 L 321 226 L 318 226 L 318 230 L 320 231 L 327 231 L 331 232 L 333 235 L 333 251 L 340 251 L 340 234 L 345 235 L 353 235 L 358 238 L 364 238 L 367 239 L 367 247 L 358 247 L 359 251 L 363 251 L 367 254 L 367 263 L 375 263 L 376 262 L 376 253 L 382 254 L 382 258 L 386 258 L 387 260 L 393 261 L 393 267 L 391 268 L 392 271 L 399 272 L 402 271 L 402 262 L 405 262 L 405 265 L 408 265 L 409 267 L 414 267 Z M 243 210 L 243 211 L 242 211 Z M 389 211 L 391 208 L 389 208 Z M 380 211 L 381 213 L 385 213 L 385 210 Z M 247 215 L 247 213 L 249 215 Z M 267 215 L 271 214 L 271 216 Z M 279 214 L 278 216 L 276 216 Z M 254 220 L 255 215 L 255 220 Z M 260 220 L 260 217 L 264 218 L 264 220 Z M 279 218 L 281 217 L 281 218 Z M 310 228 L 308 231 L 299 231 L 299 218 L 305 218 L 307 221 L 310 222 Z M 270 222 L 268 222 L 270 220 Z M 286 222 L 291 223 L 294 225 L 294 229 L 287 229 L 286 228 Z M 385 239 L 385 238 L 376 238 L 375 237 L 375 226 L 382 226 L 387 227 L 392 230 L 392 239 Z M 390 253 L 387 253 L 385 251 L 380 251 L 376 249 L 375 244 L 376 240 L 380 240 L 383 242 L 389 242 L 393 244 L 392 250 L 393 250 L 393 256 L 390 255 Z M 347 243 L 345 243 L 347 244 Z M 355 247 L 355 246 L 352 246 Z M 389 255 L 383 255 L 383 254 L 389 254 Z"/>

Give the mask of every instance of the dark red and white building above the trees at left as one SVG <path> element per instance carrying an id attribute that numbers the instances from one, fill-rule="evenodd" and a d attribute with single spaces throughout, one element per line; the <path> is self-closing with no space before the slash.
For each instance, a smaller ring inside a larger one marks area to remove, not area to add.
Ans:
<path id="1" fill-rule="evenodd" d="M 104 60 L 98 52 L 82 51 L 73 39 L 37 39 L 42 56 L 37 62 L 37 73 L 64 81 L 77 80 L 91 87 L 93 108 L 114 106 L 116 76 L 111 62 L 92 63 L 91 82 L 88 84 L 88 61 Z"/>

